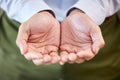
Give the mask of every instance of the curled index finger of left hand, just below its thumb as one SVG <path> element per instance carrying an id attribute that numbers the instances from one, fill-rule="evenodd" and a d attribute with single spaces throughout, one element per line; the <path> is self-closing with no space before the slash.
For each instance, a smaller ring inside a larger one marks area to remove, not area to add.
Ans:
<path id="1" fill-rule="evenodd" d="M 32 60 L 32 59 L 41 59 L 43 58 L 43 56 L 39 53 L 33 53 L 33 52 L 28 52 L 26 54 L 24 54 L 24 57 L 27 59 L 27 60 Z"/>

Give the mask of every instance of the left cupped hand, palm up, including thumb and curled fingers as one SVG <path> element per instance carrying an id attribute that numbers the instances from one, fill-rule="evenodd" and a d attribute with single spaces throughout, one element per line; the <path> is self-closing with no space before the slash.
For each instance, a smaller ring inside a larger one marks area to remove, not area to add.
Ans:
<path id="1" fill-rule="evenodd" d="M 16 43 L 27 60 L 34 64 L 59 61 L 60 25 L 47 11 L 33 15 L 19 27 Z"/>

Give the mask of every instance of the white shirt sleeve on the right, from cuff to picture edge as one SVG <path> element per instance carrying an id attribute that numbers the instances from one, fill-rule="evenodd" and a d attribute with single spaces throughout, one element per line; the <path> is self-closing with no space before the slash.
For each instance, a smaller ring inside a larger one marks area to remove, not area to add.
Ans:
<path id="1" fill-rule="evenodd" d="M 78 0 L 71 8 L 82 10 L 100 25 L 106 17 L 120 10 L 120 0 Z"/>

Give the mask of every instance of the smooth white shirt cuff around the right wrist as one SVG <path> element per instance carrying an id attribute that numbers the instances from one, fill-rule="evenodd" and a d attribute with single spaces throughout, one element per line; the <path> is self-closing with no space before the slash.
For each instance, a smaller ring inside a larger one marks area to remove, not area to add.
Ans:
<path id="1" fill-rule="evenodd" d="M 106 17 L 105 8 L 97 0 L 79 0 L 71 8 L 82 10 L 98 25 L 102 24 Z"/>

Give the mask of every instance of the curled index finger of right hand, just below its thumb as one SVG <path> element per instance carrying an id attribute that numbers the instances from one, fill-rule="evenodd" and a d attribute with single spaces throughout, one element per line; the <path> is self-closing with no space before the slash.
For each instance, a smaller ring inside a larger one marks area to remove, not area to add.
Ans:
<path id="1" fill-rule="evenodd" d="M 85 50 L 85 51 L 80 51 L 77 53 L 79 58 L 85 59 L 85 60 L 90 60 L 92 59 L 95 55 L 92 53 L 91 50 Z"/>

